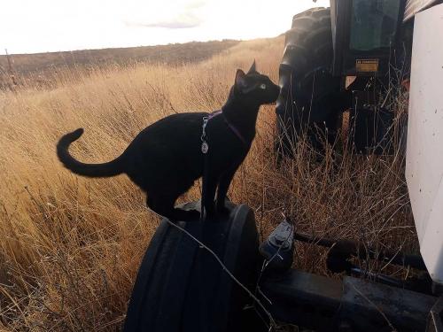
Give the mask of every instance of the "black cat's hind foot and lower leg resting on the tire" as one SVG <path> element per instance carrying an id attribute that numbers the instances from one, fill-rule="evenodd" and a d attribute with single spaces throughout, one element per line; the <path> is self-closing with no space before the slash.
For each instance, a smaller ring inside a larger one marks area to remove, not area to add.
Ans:
<path id="1" fill-rule="evenodd" d="M 174 207 L 177 197 L 149 195 L 146 205 L 157 214 L 166 217 L 173 222 L 176 221 L 198 221 L 200 213 L 196 210 L 185 211 Z"/>

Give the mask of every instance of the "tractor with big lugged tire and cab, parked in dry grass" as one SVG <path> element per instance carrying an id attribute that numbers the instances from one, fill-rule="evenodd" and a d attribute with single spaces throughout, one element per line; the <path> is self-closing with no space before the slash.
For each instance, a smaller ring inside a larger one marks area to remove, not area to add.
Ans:
<path id="1" fill-rule="evenodd" d="M 330 8 L 295 15 L 279 68 L 278 157 L 291 157 L 301 137 L 322 151 L 340 129 L 356 153 L 392 151 L 396 114 L 386 101 L 392 87 L 408 87 L 415 14 L 436 4 L 330 0 Z"/>

